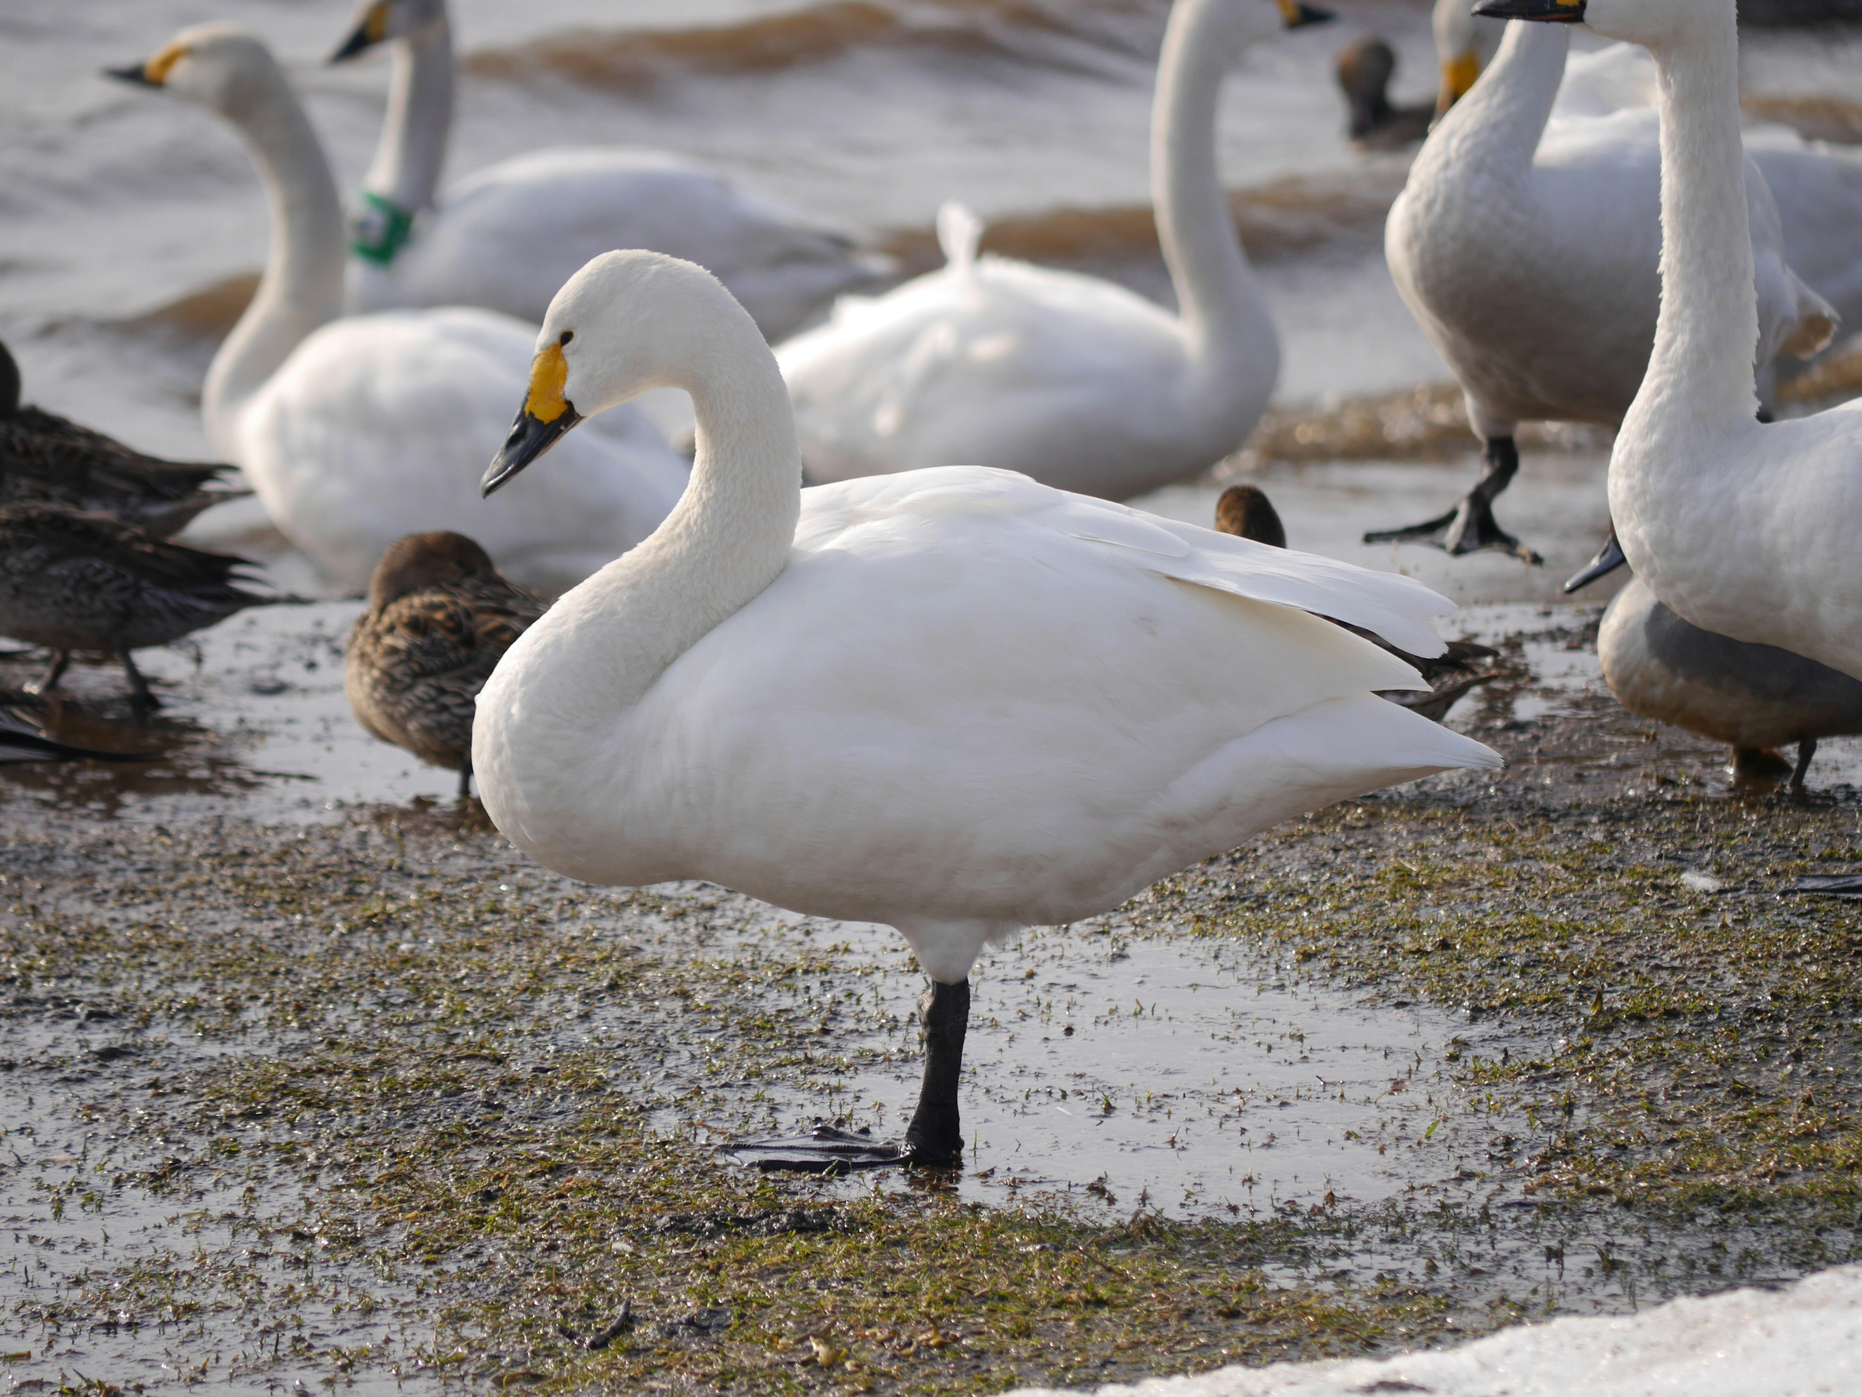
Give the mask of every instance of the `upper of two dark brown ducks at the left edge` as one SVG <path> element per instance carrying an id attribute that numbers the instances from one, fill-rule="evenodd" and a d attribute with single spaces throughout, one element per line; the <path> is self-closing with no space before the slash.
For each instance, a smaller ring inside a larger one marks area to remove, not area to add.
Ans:
<path id="1" fill-rule="evenodd" d="M 108 514 L 168 538 L 201 510 L 250 490 L 223 484 L 231 466 L 145 456 L 102 432 L 19 400 L 19 365 L 0 345 L 0 505 L 63 505 Z"/>

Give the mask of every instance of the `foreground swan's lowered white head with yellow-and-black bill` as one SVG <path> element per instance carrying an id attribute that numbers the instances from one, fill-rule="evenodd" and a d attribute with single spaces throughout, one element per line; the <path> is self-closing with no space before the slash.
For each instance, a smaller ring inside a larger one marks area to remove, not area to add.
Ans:
<path id="1" fill-rule="evenodd" d="M 583 417 L 655 387 L 689 387 L 721 367 L 726 346 L 745 343 L 762 348 L 762 332 L 702 266 L 657 251 L 601 253 L 549 302 L 531 389 L 480 490 L 497 490 Z"/>

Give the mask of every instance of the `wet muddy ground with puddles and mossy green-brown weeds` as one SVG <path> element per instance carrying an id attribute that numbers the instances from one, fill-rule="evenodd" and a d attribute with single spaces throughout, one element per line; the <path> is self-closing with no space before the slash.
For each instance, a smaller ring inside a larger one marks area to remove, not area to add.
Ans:
<path id="1" fill-rule="evenodd" d="M 1229 469 L 1343 551 L 1469 462 Z M 1599 471 L 1529 458 L 1516 527 L 1581 553 Z M 348 719 L 356 602 L 151 654 L 140 730 L 80 667 L 54 726 L 164 760 L 0 769 L 0 1391 L 989 1391 L 1862 1255 L 1862 909 L 1789 892 L 1862 866 L 1862 741 L 1732 790 L 1603 689 L 1596 604 L 1532 600 L 1557 563 L 1506 566 L 1450 723 L 1512 766 L 989 956 L 955 1175 L 730 1164 L 899 1133 L 903 944 L 529 864 Z"/>

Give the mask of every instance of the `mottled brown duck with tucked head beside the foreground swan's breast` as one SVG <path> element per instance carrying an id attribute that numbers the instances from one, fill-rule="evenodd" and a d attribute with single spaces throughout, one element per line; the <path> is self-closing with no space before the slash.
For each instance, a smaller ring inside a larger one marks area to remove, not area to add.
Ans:
<path id="1" fill-rule="evenodd" d="M 469 795 L 479 689 L 544 607 L 471 538 L 410 533 L 374 564 L 369 609 L 350 631 L 343 689 L 356 721 L 458 771 L 460 795 Z"/>

